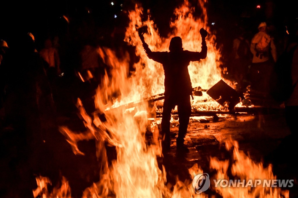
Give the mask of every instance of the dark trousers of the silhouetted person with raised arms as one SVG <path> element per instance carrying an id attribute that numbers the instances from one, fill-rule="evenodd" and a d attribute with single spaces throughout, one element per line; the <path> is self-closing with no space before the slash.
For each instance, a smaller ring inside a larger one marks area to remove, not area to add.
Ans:
<path id="1" fill-rule="evenodd" d="M 191 114 L 190 95 L 171 96 L 166 95 L 162 112 L 162 136 L 163 141 L 170 142 L 170 120 L 171 112 L 175 106 L 178 106 L 179 133 L 177 144 L 183 144 L 186 135 L 189 117 Z"/>

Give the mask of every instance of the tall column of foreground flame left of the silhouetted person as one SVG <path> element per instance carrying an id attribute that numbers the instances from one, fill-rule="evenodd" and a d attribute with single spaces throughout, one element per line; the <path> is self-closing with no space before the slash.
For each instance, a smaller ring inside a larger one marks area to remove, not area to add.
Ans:
<path id="1" fill-rule="evenodd" d="M 109 64 L 113 66 L 111 78 L 106 75 L 103 84 L 97 89 L 96 108 L 105 115 L 103 124 L 112 136 L 117 137 L 117 161 L 111 167 L 113 191 L 119 197 L 162 197 L 165 175 L 158 168 L 156 155 L 158 146 L 146 146 L 145 130 L 148 125 L 148 105 L 140 102 L 138 106 L 127 109 L 115 107 L 110 96 L 120 93 L 121 102 L 140 99 L 132 91 L 134 80 L 127 78 L 127 62 L 118 62 L 112 51 L 106 49 Z M 133 97 L 133 98 L 131 98 Z M 120 101 L 117 101 L 120 102 Z"/>

